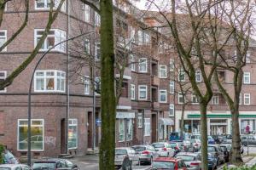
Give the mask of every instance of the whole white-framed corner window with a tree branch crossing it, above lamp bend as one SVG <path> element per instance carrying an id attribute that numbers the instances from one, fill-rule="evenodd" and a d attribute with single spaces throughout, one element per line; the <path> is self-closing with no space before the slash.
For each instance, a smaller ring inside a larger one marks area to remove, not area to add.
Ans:
<path id="1" fill-rule="evenodd" d="M 43 36 L 44 30 L 36 29 L 35 30 L 35 47 L 38 45 L 40 38 Z M 48 36 L 45 38 L 41 51 L 47 51 L 49 48 L 53 48 L 55 44 L 63 42 L 66 40 L 66 31 L 61 31 L 58 29 L 52 29 L 49 31 Z M 66 52 L 66 42 L 61 43 L 60 45 L 54 48 L 56 51 Z"/>

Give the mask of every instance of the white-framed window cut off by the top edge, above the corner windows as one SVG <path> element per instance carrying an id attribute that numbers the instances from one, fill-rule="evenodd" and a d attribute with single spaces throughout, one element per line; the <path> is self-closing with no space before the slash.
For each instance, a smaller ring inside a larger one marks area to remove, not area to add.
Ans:
<path id="1" fill-rule="evenodd" d="M 54 0 L 54 9 L 58 8 L 59 4 L 61 3 L 61 0 Z M 46 9 L 49 10 L 50 8 L 50 0 L 36 0 L 35 1 L 35 8 L 36 9 Z M 66 1 L 61 6 L 61 11 L 66 12 Z"/>

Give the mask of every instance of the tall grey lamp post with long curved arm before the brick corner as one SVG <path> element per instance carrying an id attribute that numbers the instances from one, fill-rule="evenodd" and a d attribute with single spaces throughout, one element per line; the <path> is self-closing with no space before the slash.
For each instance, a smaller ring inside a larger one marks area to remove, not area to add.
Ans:
<path id="1" fill-rule="evenodd" d="M 49 48 L 47 51 L 44 52 L 44 54 L 38 60 L 36 66 L 34 67 L 34 69 L 32 71 L 32 77 L 31 77 L 31 80 L 30 80 L 29 91 L 28 91 L 28 114 L 27 114 L 27 165 L 29 167 L 31 167 L 31 158 L 32 158 L 32 156 L 31 156 L 31 117 L 32 117 L 31 116 L 31 94 L 32 94 L 31 91 L 32 91 L 32 82 L 33 82 L 33 79 L 34 79 L 35 71 L 38 69 L 38 65 L 40 64 L 42 59 L 44 59 L 46 54 L 49 53 L 50 50 L 52 50 L 53 48 L 55 48 L 58 45 L 61 45 L 61 43 L 68 42 L 70 40 L 74 40 L 76 38 L 89 35 L 89 34 L 93 33 L 94 31 L 95 30 L 88 31 L 88 32 L 85 32 L 83 34 L 80 34 L 79 36 L 71 37 L 71 38 L 68 38 L 67 40 L 64 40 L 62 42 L 59 42 L 59 43 L 55 44 L 53 47 Z"/>

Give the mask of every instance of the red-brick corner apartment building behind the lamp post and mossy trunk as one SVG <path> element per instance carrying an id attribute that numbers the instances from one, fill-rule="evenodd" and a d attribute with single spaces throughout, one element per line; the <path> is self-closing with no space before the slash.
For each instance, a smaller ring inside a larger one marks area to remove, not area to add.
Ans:
<path id="1" fill-rule="evenodd" d="M 142 11 L 131 4 L 127 5 L 130 13 L 142 14 Z M 7 3 L 0 29 L 1 44 L 20 26 L 25 14 L 24 9 L 24 2 L 20 0 Z M 125 26 L 122 27 L 125 28 L 125 38 L 134 39 L 133 50 L 142 47 L 150 50 L 147 55 L 129 54 L 131 63 L 125 68 L 122 94 L 117 106 L 117 146 L 149 144 L 164 140 L 174 128 L 174 114 L 169 114 L 169 52 L 158 48 L 160 42 L 164 48 L 167 38 L 156 29 L 143 29 L 156 19 L 138 20 L 135 17 L 136 24 L 130 26 L 126 15 L 129 11 L 126 9 L 115 7 L 114 25 L 119 26 L 122 23 L 122 26 Z M 48 14 L 47 0 L 30 1 L 26 28 L 0 54 L 1 79 L 8 77 L 32 52 L 42 36 Z M 27 94 L 32 70 L 39 57 L 48 48 L 68 37 L 96 30 L 95 33 L 80 38 L 77 42 L 83 42 L 86 53 L 92 54 L 96 59 L 96 65 L 99 65 L 98 26 L 99 16 L 89 6 L 80 3 L 79 0 L 66 0 L 36 59 L 9 87 L 1 91 L 0 143 L 14 150 L 15 155 L 26 155 Z M 120 45 L 119 40 L 118 38 L 116 42 L 117 48 L 122 51 L 124 46 Z M 65 153 L 66 137 L 69 153 L 84 155 L 93 147 L 93 127 L 96 128 L 96 147 L 100 142 L 100 94 L 95 93 L 94 120 L 90 66 L 83 65 L 77 69 L 76 64 L 79 60 L 73 59 L 73 55 L 76 55 L 73 54 L 76 45 L 76 42 L 67 42 L 57 46 L 44 57 L 35 72 L 32 84 L 32 156 L 58 156 Z M 100 74 L 96 69 L 95 72 L 95 82 L 100 82 Z M 116 77 L 120 77 L 118 71 Z M 65 130 L 67 116 L 68 132 Z"/>

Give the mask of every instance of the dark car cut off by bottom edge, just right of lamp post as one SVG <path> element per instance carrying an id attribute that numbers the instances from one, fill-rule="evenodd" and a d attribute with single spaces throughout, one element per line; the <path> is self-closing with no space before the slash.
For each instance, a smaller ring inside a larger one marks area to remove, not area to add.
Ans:
<path id="1" fill-rule="evenodd" d="M 79 170 L 79 167 L 73 162 L 68 161 L 66 159 L 44 159 L 42 161 L 35 161 L 33 166 L 33 170 L 42 170 L 42 169 L 48 169 L 48 170 L 55 170 L 55 169 L 67 169 L 67 170 Z"/>

